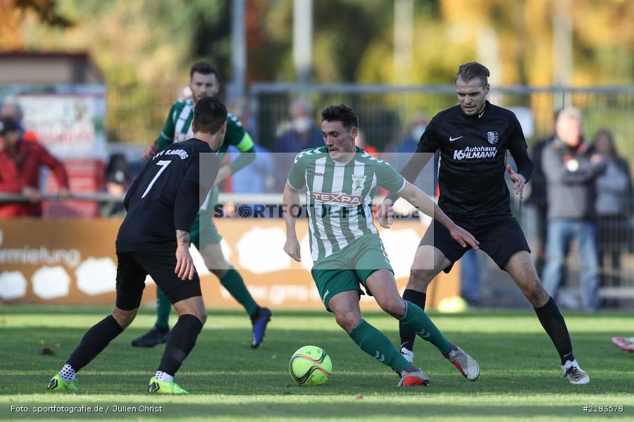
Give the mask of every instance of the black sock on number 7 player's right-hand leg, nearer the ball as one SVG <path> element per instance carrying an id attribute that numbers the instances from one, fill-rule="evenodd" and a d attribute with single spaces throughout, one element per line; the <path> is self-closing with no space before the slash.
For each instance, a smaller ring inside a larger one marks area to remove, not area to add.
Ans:
<path id="1" fill-rule="evenodd" d="M 178 322 L 172 328 L 165 345 L 165 352 L 163 352 L 161 364 L 159 364 L 157 371 L 163 371 L 174 376 L 182 362 L 185 362 L 189 352 L 194 348 L 201 329 L 202 324 L 196 316 L 192 314 L 179 316 Z"/>

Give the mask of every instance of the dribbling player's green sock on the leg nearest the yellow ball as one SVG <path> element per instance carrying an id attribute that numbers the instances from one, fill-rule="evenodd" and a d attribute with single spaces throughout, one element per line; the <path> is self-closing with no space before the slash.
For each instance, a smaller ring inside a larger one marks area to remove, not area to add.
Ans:
<path id="1" fill-rule="evenodd" d="M 354 343 L 361 347 L 371 357 L 377 359 L 382 364 L 390 366 L 394 371 L 402 372 L 409 362 L 396 350 L 396 347 L 390 343 L 385 334 L 368 324 L 365 319 L 361 319 L 352 331 L 349 332 Z"/>

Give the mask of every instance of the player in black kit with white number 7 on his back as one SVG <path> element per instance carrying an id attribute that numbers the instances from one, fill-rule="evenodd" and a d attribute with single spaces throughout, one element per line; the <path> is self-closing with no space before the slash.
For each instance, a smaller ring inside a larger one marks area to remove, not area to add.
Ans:
<path id="1" fill-rule="evenodd" d="M 135 319 L 149 274 L 178 312 L 163 358 L 148 391 L 183 394 L 173 376 L 192 351 L 206 320 L 200 280 L 189 255 L 189 228 L 218 174 L 215 154 L 227 128 L 217 98 L 196 104 L 194 137 L 154 155 L 130 187 L 128 214 L 116 240 L 117 298 L 112 314 L 92 326 L 49 382 L 49 390 L 77 390 L 75 375 Z"/>

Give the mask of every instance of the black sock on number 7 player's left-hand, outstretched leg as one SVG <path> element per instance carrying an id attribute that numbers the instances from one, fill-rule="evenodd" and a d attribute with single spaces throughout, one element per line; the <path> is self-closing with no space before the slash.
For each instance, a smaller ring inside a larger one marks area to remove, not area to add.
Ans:
<path id="1" fill-rule="evenodd" d="M 75 371 L 79 371 L 97 357 L 97 354 L 101 353 L 108 343 L 122 332 L 123 328 L 121 328 L 117 320 L 112 315 L 106 316 L 106 318 L 86 331 L 80 344 L 75 347 L 66 364 L 72 366 Z"/>

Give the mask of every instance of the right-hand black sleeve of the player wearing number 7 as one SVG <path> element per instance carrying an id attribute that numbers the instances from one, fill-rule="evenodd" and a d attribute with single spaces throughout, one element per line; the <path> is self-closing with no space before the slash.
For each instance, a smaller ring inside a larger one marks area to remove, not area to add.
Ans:
<path id="1" fill-rule="evenodd" d="M 215 153 L 194 153 L 176 194 L 175 229 L 190 231 L 209 188 L 216 180 L 220 160 Z"/>

